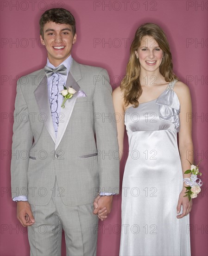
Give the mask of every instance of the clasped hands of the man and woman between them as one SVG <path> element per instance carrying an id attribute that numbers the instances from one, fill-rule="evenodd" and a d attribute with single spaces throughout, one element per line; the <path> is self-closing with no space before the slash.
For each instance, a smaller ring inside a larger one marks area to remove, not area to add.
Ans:
<path id="1" fill-rule="evenodd" d="M 94 214 L 97 214 L 101 221 L 107 218 L 107 215 L 111 212 L 111 204 L 113 201 L 113 195 L 98 195 L 94 200 Z"/>

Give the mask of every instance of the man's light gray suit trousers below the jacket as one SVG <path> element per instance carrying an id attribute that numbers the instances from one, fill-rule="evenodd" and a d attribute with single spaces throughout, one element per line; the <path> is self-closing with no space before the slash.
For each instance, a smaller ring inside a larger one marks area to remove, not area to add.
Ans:
<path id="1" fill-rule="evenodd" d="M 50 202 L 31 205 L 35 223 L 28 227 L 31 256 L 61 256 L 62 230 L 65 233 L 67 256 L 95 256 L 98 218 L 93 204 L 63 204 L 55 182 Z"/>

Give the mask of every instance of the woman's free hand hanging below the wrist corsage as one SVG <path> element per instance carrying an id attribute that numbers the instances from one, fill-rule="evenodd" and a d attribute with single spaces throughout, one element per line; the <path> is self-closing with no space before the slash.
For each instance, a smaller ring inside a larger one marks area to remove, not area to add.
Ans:
<path id="1" fill-rule="evenodd" d="M 183 206 L 183 213 L 176 216 L 178 219 L 181 219 L 187 214 L 189 214 L 192 208 L 192 199 L 189 201 L 188 196 L 184 197 L 184 195 L 186 195 L 185 192 L 186 189 L 183 189 L 178 198 L 177 213 L 181 211 L 181 206 Z"/>

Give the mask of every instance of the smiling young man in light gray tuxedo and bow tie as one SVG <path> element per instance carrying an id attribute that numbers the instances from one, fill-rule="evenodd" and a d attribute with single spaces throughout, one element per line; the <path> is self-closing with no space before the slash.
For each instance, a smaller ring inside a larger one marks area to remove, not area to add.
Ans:
<path id="1" fill-rule="evenodd" d="M 114 113 L 112 88 L 106 70 L 72 59 L 76 27 L 69 11 L 47 10 L 40 39 L 46 67 L 17 85 L 14 115 L 28 118 L 15 119 L 12 149 L 29 157 L 12 158 L 13 201 L 32 256 L 61 255 L 62 228 L 67 255 L 96 255 L 96 214 L 107 217 L 119 187 L 119 157 L 111 155 L 118 151 L 116 124 L 103 118 Z"/>

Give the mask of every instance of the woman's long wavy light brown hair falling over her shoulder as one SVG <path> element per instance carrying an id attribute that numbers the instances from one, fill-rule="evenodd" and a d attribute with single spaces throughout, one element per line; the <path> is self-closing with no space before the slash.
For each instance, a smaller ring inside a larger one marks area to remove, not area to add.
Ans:
<path id="1" fill-rule="evenodd" d="M 160 64 L 159 71 L 164 76 L 165 81 L 170 82 L 178 80 L 173 73 L 172 55 L 168 40 L 161 27 L 154 23 L 145 23 L 141 25 L 134 36 L 130 48 L 130 58 L 126 67 L 126 76 L 121 81 L 120 88 L 124 93 L 124 102 L 128 106 L 132 104 L 135 108 L 139 106 L 139 97 L 142 94 L 142 88 L 139 81 L 140 63 L 136 57 L 135 51 L 141 45 L 141 40 L 145 35 L 149 35 L 157 41 L 158 46 L 164 54 L 164 58 Z"/>

